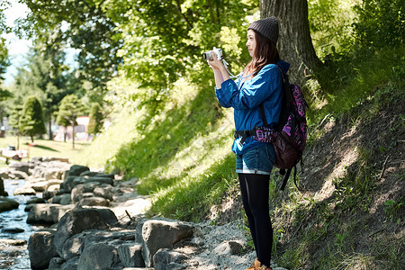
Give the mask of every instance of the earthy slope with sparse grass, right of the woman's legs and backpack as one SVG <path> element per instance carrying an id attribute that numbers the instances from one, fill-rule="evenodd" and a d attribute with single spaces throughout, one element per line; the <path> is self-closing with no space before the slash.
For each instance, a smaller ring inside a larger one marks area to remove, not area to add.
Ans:
<path id="1" fill-rule="evenodd" d="M 313 130 L 301 193 L 292 186 L 273 202 L 284 266 L 405 266 L 404 91 L 387 89 Z"/>

